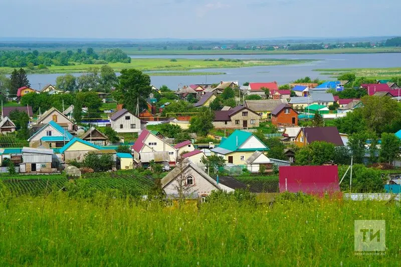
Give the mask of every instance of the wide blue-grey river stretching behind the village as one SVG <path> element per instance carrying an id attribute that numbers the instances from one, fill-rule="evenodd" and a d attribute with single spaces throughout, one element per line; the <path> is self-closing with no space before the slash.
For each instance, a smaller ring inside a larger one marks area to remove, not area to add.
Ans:
<path id="1" fill-rule="evenodd" d="M 176 90 L 180 85 L 217 83 L 220 81 L 239 81 L 240 84 L 250 82 L 269 82 L 277 81 L 279 84 L 285 84 L 301 77 L 309 76 L 322 80 L 330 79 L 329 76 L 321 75 L 314 69 L 331 68 L 391 68 L 401 67 L 401 53 L 379 53 L 379 54 L 315 54 L 315 55 L 173 55 L 173 56 L 131 56 L 131 58 L 235 58 L 235 59 L 318 59 L 305 64 L 295 65 L 276 65 L 276 66 L 258 66 L 229 69 L 197 69 L 193 72 L 225 72 L 224 75 L 209 76 L 150 76 L 154 86 L 159 87 L 163 84 L 170 89 Z M 57 74 L 30 74 L 28 78 L 31 86 L 38 89 L 45 84 L 55 84 Z M 81 74 L 74 74 L 79 76 Z"/>

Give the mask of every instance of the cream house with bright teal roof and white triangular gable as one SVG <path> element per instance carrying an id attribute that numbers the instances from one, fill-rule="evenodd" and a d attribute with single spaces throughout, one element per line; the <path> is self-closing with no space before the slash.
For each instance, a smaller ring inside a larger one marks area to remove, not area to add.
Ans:
<path id="1" fill-rule="evenodd" d="M 211 151 L 214 155 L 223 157 L 229 164 L 245 165 L 246 160 L 255 151 L 268 150 L 269 148 L 251 132 L 235 130 L 228 138 L 222 139 L 219 147 Z"/>

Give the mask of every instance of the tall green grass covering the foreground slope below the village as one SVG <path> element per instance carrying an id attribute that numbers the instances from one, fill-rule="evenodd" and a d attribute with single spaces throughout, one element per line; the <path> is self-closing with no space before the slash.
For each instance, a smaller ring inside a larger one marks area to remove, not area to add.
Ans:
<path id="1" fill-rule="evenodd" d="M 0 202 L 1 265 L 396 265 L 392 203 L 217 198 L 182 208 L 97 194 Z M 386 220 L 385 256 L 354 254 L 354 220 Z"/>

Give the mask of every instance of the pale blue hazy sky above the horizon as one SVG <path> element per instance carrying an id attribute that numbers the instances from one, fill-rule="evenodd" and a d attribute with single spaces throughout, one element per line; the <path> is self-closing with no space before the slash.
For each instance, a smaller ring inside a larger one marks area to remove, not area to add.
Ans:
<path id="1" fill-rule="evenodd" d="M 399 0 L 0 0 L 0 10 L 0 37 L 401 35 L 396 15 L 401 10 Z"/>

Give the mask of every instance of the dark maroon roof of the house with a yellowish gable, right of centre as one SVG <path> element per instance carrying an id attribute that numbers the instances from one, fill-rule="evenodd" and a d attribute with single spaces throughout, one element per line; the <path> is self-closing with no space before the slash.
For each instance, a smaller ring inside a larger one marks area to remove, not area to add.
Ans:
<path id="1" fill-rule="evenodd" d="M 336 146 L 344 146 L 337 127 L 305 127 L 303 131 L 309 144 L 314 141 L 325 141 Z"/>

